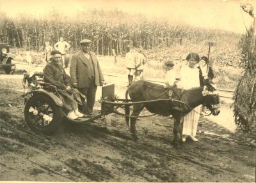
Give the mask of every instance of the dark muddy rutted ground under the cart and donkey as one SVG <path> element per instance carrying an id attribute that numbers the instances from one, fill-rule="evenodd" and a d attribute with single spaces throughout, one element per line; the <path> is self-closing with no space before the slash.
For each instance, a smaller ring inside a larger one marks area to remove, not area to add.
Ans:
<path id="1" fill-rule="evenodd" d="M 135 142 L 124 117 L 116 114 L 83 125 L 63 123 L 54 135 L 43 135 L 31 131 L 24 121 L 24 103 L 17 84 L 20 77 L 13 75 L 12 82 L 3 78 L 0 76 L 0 180 L 255 180 L 255 147 L 249 143 L 255 136 L 232 132 L 201 117 L 199 141 L 187 140 L 175 148 L 173 120 L 155 115 L 138 120 L 140 139 Z M 99 106 L 97 103 L 95 108 Z M 143 114 L 149 113 L 145 110 Z"/>

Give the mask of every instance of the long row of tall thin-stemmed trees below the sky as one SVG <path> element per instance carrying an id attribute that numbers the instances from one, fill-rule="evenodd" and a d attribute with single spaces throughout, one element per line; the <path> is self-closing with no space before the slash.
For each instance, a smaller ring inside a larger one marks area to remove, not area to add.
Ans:
<path id="1" fill-rule="evenodd" d="M 72 16 L 52 9 L 40 18 L 26 14 L 8 17 L 0 12 L 0 26 L 1 42 L 9 43 L 10 47 L 39 50 L 45 41 L 54 45 L 63 37 L 70 43 L 72 50 L 77 50 L 79 41 L 87 38 L 93 41 L 92 50 L 101 55 L 112 55 L 113 49 L 117 55 L 123 55 L 130 43 L 150 49 L 170 47 L 173 43 L 182 44 L 184 40 L 196 44 L 227 34 L 172 24 L 164 18 L 149 18 L 117 9 L 84 10 Z"/>

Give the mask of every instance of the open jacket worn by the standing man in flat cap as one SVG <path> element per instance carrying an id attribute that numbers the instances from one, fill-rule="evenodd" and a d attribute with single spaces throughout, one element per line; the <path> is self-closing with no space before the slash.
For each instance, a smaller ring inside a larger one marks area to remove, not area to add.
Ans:
<path id="1" fill-rule="evenodd" d="M 93 62 L 93 67 L 95 71 L 95 85 L 99 86 L 100 82 L 104 81 L 104 77 L 100 70 L 100 65 L 97 56 L 90 52 L 90 57 Z M 79 51 L 72 55 L 70 64 L 70 78 L 72 84 L 77 83 L 78 88 L 89 87 L 89 76 L 88 76 L 88 59 L 83 54 L 83 51 Z"/>

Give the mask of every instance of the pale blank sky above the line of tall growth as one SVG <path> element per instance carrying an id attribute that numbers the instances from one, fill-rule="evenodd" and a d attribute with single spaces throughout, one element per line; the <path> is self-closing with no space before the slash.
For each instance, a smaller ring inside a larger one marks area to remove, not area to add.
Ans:
<path id="1" fill-rule="evenodd" d="M 231 0 L 0 0 L 0 10 L 9 16 L 28 13 L 40 17 L 54 8 L 72 17 L 77 11 L 86 9 L 117 8 L 131 13 L 143 13 L 148 17 L 165 17 L 171 22 L 196 27 L 244 33 L 244 24 L 249 27 L 252 18 L 241 11 L 239 3 Z"/>

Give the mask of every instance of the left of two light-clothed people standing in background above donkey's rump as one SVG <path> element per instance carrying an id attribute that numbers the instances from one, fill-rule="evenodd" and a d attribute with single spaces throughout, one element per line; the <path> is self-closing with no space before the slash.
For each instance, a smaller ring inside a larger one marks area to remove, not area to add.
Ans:
<path id="1" fill-rule="evenodd" d="M 125 55 L 125 64 L 128 70 L 128 83 L 132 84 L 133 76 L 136 71 L 136 65 L 138 62 L 138 52 L 133 47 L 133 45 L 129 45 L 130 51 Z M 127 87 L 129 87 L 129 85 Z"/>

